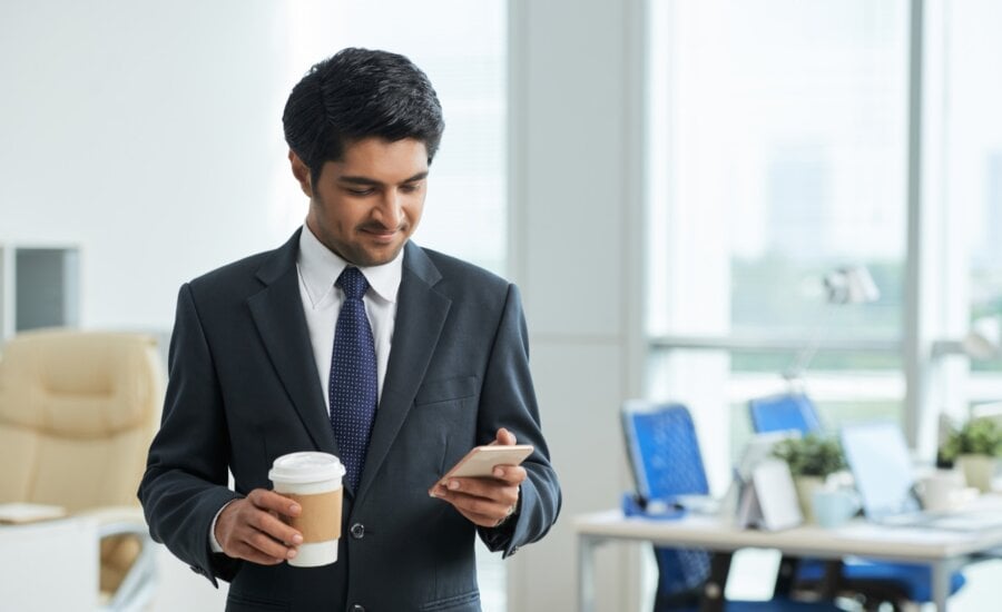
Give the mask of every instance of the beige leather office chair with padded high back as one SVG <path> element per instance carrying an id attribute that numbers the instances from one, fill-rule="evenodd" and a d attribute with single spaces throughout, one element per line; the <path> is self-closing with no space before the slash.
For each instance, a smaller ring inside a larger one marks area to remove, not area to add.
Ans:
<path id="1" fill-rule="evenodd" d="M 0 351 L 0 503 L 98 520 L 106 610 L 140 610 L 153 596 L 154 547 L 136 490 L 163 383 L 156 340 L 141 334 L 46 329 Z"/>

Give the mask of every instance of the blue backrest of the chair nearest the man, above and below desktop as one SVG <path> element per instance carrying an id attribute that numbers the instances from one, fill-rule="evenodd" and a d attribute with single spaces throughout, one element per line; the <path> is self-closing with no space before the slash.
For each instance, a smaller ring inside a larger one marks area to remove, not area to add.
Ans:
<path id="1" fill-rule="evenodd" d="M 627 402 L 622 431 L 640 495 L 670 499 L 709 492 L 696 427 L 685 406 Z M 655 556 L 659 601 L 699 589 L 709 575 L 706 551 L 655 547 Z"/>

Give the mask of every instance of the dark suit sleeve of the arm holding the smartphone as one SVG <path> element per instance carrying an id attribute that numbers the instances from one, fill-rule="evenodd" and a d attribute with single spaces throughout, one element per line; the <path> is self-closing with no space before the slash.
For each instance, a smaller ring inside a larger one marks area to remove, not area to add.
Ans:
<path id="1" fill-rule="evenodd" d="M 503 556 L 519 546 L 540 540 L 560 513 L 560 484 L 550 465 L 543 438 L 532 375 L 529 369 L 529 333 L 519 290 L 509 285 L 504 309 L 494 335 L 481 393 L 479 436 L 493 440 L 499 427 L 515 434 L 519 444 L 536 450 L 522 463 L 528 476 L 522 482 L 518 513 L 497 529 L 478 527 L 481 540 Z"/>

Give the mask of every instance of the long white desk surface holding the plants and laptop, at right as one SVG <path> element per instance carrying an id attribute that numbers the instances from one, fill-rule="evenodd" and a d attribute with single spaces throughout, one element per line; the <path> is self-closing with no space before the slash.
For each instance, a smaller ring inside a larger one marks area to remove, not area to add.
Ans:
<path id="1" fill-rule="evenodd" d="M 902 561 L 935 561 L 975 554 L 1002 546 L 1002 527 L 959 532 L 924 527 L 887 527 L 864 521 L 838 529 L 800 526 L 784 531 L 739 529 L 717 516 L 688 515 L 657 521 L 625 517 L 607 511 L 574 519 L 579 535 L 597 539 L 642 540 L 658 544 L 707 547 L 716 551 L 779 549 L 793 555 L 872 556 Z"/>

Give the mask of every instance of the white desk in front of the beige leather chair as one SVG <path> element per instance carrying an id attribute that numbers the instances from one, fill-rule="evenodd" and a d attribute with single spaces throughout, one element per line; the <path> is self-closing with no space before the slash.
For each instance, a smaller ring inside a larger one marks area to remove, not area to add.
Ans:
<path id="1" fill-rule="evenodd" d="M 96 610 L 99 554 L 88 519 L 0 525 L 0 608 Z"/>

